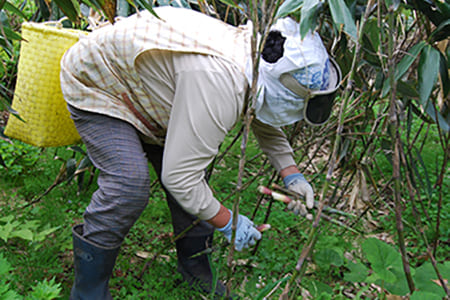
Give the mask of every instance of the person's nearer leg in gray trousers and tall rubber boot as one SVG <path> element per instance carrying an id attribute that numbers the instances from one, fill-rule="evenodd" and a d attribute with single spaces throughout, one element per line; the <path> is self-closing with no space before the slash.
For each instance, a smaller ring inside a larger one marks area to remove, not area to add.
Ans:
<path id="1" fill-rule="evenodd" d="M 75 281 L 71 299 L 112 299 L 109 278 L 120 245 L 149 199 L 148 161 L 127 122 L 69 107 L 99 170 L 98 189 L 73 228 Z"/>

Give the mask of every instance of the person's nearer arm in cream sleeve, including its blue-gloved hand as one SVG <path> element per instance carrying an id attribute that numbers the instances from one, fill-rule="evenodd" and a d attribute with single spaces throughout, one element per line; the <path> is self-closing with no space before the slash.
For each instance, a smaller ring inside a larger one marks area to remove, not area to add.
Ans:
<path id="1" fill-rule="evenodd" d="M 162 182 L 187 212 L 207 220 L 230 241 L 232 212 L 213 196 L 204 170 L 239 118 L 245 79 L 243 75 L 236 78 L 240 73 L 233 74 L 221 60 L 205 62 L 204 56 L 198 59 L 197 64 L 211 63 L 219 71 L 192 65 L 189 69 L 188 65 L 177 73 Z M 247 217 L 238 215 L 237 220 L 235 248 L 240 251 L 260 239 L 261 233 Z"/>

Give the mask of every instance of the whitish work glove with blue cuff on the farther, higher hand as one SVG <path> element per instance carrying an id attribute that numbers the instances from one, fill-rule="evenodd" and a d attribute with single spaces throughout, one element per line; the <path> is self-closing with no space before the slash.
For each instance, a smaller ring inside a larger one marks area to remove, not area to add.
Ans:
<path id="1" fill-rule="evenodd" d="M 303 176 L 303 174 L 294 173 L 288 175 L 284 177 L 283 182 L 284 186 L 287 189 L 305 198 L 306 206 L 309 209 L 314 207 L 314 191 L 309 182 Z M 302 216 L 305 216 L 308 213 L 305 205 L 302 203 L 301 200 L 292 200 L 288 204 L 288 209 L 292 210 L 296 215 L 300 214 Z"/>

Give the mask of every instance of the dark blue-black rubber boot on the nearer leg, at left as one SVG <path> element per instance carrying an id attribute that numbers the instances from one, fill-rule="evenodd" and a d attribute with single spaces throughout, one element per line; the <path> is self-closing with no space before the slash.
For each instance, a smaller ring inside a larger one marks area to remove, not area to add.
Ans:
<path id="1" fill-rule="evenodd" d="M 119 247 L 107 248 L 83 238 L 83 225 L 72 228 L 75 280 L 70 300 L 112 299 L 108 282 Z"/>

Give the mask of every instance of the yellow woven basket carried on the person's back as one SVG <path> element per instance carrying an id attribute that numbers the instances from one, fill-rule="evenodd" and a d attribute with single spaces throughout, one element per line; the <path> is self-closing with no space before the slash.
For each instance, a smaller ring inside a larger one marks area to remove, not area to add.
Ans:
<path id="1" fill-rule="evenodd" d="M 63 98 L 59 72 L 63 54 L 87 32 L 45 23 L 22 24 L 17 84 L 5 135 L 39 147 L 80 141 Z"/>

